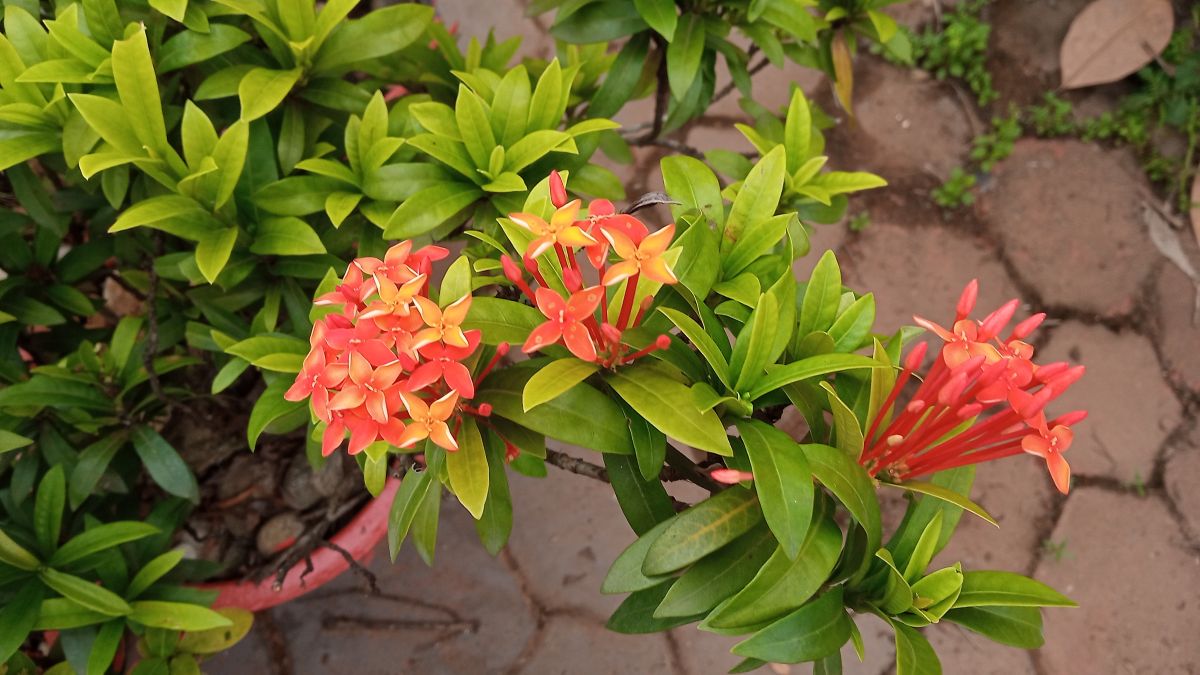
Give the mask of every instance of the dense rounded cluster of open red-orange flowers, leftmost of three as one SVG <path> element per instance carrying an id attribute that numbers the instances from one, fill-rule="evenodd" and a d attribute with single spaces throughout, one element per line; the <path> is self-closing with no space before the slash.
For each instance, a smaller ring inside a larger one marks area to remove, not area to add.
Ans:
<path id="1" fill-rule="evenodd" d="M 475 395 L 476 381 L 463 362 L 480 342 L 479 330 L 461 328 L 470 295 L 444 309 L 428 297 L 433 261 L 446 255 L 440 246 L 414 251 L 412 241 L 403 241 L 383 259 L 354 259 L 342 282 L 316 299 L 342 311 L 313 324 L 311 351 L 283 398 L 312 400 L 326 425 L 323 454 L 337 449 L 347 431 L 352 455 L 377 441 L 408 448 L 425 438 L 457 450 L 460 414 L 491 413 L 486 404 L 464 402 Z"/>

